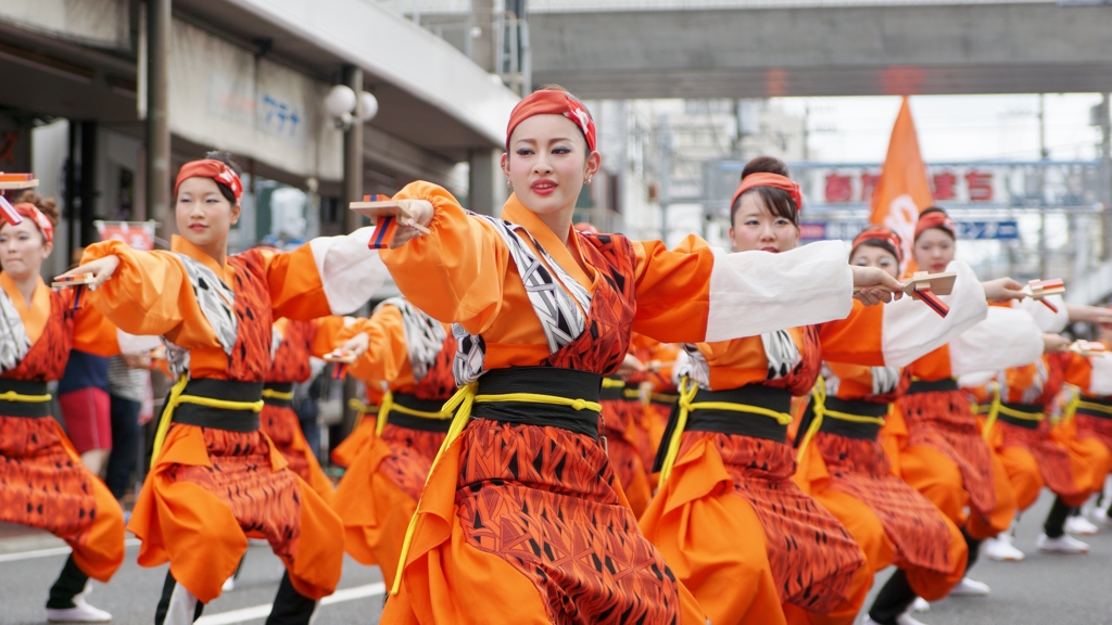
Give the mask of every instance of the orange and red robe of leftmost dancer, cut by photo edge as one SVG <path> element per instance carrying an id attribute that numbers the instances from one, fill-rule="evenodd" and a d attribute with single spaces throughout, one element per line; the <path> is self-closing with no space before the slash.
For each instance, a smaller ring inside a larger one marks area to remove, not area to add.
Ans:
<path id="1" fill-rule="evenodd" d="M 0 316 L 7 317 L 0 390 L 60 379 L 71 348 L 100 356 L 118 353 L 116 328 L 91 307 L 75 311 L 73 290 L 52 291 L 40 279 L 26 301 L 2 272 L 0 288 Z M 78 568 L 107 583 L 123 563 L 123 512 L 81 463 L 58 421 L 4 413 L 19 407 L 0 400 L 0 522 L 64 539 Z"/>

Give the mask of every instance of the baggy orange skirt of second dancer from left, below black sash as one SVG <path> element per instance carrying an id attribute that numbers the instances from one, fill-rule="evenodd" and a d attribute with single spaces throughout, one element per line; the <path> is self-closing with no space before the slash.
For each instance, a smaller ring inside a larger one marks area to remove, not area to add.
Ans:
<path id="1" fill-rule="evenodd" d="M 220 596 L 247 538 L 265 538 L 298 593 L 331 594 L 344 526 L 261 431 L 173 424 L 131 514 L 141 566 L 170 573 L 202 603 Z"/>

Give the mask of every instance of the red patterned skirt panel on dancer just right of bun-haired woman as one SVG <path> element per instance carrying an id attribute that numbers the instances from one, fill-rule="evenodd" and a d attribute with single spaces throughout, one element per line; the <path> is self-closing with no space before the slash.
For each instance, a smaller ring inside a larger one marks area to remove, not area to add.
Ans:
<path id="1" fill-rule="evenodd" d="M 930 499 L 892 474 L 878 443 L 820 431 L 813 445 L 826 463 L 830 488 L 864 503 L 876 514 L 897 549 L 896 566 L 944 575 L 953 571 L 945 517 Z"/>

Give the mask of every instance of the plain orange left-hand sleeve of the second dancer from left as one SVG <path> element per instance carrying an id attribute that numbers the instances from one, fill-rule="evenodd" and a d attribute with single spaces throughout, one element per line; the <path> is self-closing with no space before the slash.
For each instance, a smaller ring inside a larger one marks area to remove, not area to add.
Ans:
<path id="1" fill-rule="evenodd" d="M 101 241 L 85 249 L 81 262 L 116 255 L 120 266 L 88 294 L 111 324 L 133 335 L 165 336 L 182 347 L 220 347 L 197 304 L 181 261 L 167 251 L 139 251 L 122 241 Z"/>

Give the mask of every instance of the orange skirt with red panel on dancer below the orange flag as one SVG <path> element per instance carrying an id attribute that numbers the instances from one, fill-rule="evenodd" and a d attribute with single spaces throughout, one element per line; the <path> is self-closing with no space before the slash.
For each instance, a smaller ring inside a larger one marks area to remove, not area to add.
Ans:
<path id="1" fill-rule="evenodd" d="M 916 393 L 896 406 L 907 431 L 901 477 L 957 526 L 967 520 L 976 538 L 1007 529 L 1015 497 L 1001 459 L 981 437 L 969 397 L 961 390 Z"/>

